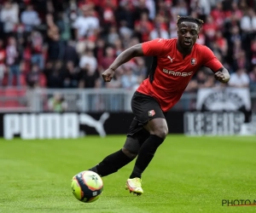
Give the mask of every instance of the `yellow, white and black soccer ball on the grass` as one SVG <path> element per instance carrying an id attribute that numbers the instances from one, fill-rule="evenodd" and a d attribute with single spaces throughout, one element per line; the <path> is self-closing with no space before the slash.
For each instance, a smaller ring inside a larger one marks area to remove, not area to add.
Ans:
<path id="1" fill-rule="evenodd" d="M 102 177 L 90 170 L 81 171 L 73 176 L 71 189 L 76 199 L 92 203 L 99 199 L 103 192 Z"/>

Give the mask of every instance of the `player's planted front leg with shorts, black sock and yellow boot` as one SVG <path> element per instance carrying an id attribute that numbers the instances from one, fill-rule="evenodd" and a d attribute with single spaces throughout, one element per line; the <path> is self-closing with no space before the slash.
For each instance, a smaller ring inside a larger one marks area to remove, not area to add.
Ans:
<path id="1" fill-rule="evenodd" d="M 130 192 L 142 194 L 141 176 L 143 171 L 154 157 L 154 153 L 160 144 L 165 140 L 168 133 L 166 124 L 166 113 L 162 112 L 159 104 L 147 95 L 135 95 L 131 107 L 136 115 L 138 125 L 148 130 L 149 136 L 143 142 L 130 178 L 126 181 L 126 188 Z M 129 135 L 129 134 L 128 134 Z"/>

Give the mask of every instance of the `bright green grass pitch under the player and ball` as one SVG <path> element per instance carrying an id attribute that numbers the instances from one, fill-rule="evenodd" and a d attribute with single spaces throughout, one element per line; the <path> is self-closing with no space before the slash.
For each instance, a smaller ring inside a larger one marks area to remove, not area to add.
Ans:
<path id="1" fill-rule="evenodd" d="M 0 141 L 0 212 L 256 212 L 222 199 L 256 199 L 256 137 L 168 135 L 143 174 L 144 194 L 125 191 L 134 162 L 103 177 L 102 197 L 83 204 L 71 179 L 118 150 L 125 135 Z"/>

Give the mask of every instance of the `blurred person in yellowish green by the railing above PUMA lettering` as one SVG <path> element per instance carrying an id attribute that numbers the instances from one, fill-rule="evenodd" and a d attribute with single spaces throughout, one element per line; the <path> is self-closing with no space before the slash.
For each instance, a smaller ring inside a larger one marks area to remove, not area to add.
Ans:
<path id="1" fill-rule="evenodd" d="M 67 110 L 67 101 L 59 93 L 55 93 L 48 100 L 49 112 L 65 112 Z"/>

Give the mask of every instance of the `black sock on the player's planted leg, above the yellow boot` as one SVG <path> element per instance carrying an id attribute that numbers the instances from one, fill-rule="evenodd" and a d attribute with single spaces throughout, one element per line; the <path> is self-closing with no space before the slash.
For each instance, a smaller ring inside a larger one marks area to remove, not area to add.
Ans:
<path id="1" fill-rule="evenodd" d="M 147 168 L 148 164 L 154 157 L 155 151 L 163 141 L 164 139 L 157 135 L 150 135 L 148 137 L 148 139 L 143 143 L 143 146 L 140 148 L 130 178 L 142 177 L 143 171 Z"/>

